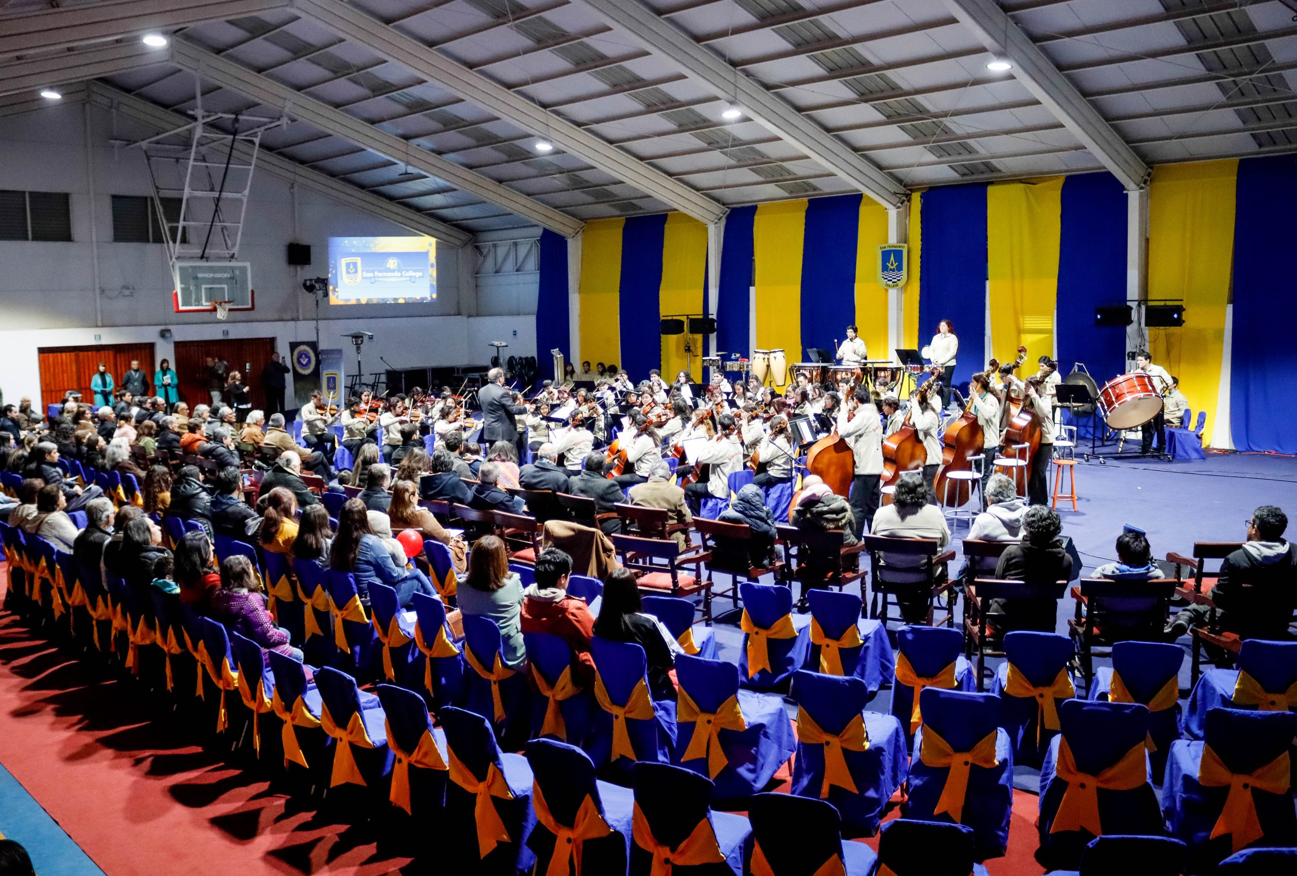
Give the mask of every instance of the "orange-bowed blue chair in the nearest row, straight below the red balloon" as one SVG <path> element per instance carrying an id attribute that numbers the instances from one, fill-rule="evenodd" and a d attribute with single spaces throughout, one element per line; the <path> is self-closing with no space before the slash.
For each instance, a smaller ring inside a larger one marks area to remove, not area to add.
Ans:
<path id="1" fill-rule="evenodd" d="M 423 697 L 394 684 L 377 687 L 392 749 L 392 805 L 414 818 L 441 818 L 446 806 L 446 733 L 432 726 Z"/>

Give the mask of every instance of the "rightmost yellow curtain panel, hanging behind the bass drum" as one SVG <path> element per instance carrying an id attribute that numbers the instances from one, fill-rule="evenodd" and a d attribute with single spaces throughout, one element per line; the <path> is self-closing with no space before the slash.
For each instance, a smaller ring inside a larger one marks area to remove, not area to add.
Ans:
<path id="1" fill-rule="evenodd" d="M 1148 297 L 1184 299 L 1184 327 L 1149 329 L 1149 352 L 1180 378 L 1191 407 L 1206 411 L 1209 441 L 1224 358 L 1237 171 L 1237 161 L 1162 165 L 1149 189 Z"/>

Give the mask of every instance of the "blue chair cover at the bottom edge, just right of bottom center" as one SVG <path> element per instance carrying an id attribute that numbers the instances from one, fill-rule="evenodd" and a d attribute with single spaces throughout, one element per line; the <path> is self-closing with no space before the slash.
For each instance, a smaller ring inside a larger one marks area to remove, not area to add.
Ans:
<path id="1" fill-rule="evenodd" d="M 676 872 L 725 873 L 742 876 L 743 849 L 752 825 L 742 815 L 713 811 L 712 783 L 690 770 L 667 763 L 637 763 L 632 772 L 636 805 L 643 813 L 652 838 L 677 849 L 707 819 L 716 835 L 724 863 L 681 867 Z M 630 844 L 630 876 L 650 876 L 652 855 L 638 844 Z"/>

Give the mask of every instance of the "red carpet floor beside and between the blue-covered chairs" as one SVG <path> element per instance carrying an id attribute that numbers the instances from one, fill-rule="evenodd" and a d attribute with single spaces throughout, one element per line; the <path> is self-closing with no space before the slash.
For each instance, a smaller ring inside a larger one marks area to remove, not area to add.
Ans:
<path id="1" fill-rule="evenodd" d="M 367 828 L 230 766 L 153 697 L 6 613 L 0 704 L 0 763 L 109 876 L 427 872 Z M 1044 872 L 1035 816 L 1036 798 L 1016 792 L 1009 857 L 988 862 L 992 876 Z"/>

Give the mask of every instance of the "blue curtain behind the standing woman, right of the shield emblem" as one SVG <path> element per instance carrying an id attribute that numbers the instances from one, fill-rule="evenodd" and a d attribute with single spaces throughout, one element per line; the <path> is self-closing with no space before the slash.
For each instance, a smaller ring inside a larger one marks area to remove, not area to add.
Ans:
<path id="1" fill-rule="evenodd" d="M 918 345 L 948 319 L 960 338 L 955 382 L 986 368 L 986 185 L 923 192 Z"/>

